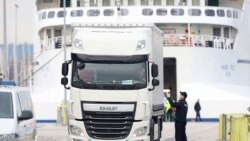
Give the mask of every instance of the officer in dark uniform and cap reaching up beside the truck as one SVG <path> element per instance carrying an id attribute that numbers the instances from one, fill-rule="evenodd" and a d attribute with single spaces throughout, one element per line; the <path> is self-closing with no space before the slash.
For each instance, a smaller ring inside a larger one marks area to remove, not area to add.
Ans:
<path id="1" fill-rule="evenodd" d="M 187 141 L 187 136 L 186 136 L 187 111 L 188 111 L 188 104 L 186 102 L 187 93 L 180 92 L 180 100 L 178 102 L 173 102 L 173 100 L 170 97 L 170 94 L 168 94 L 167 97 L 170 105 L 176 108 L 175 140 Z"/>

